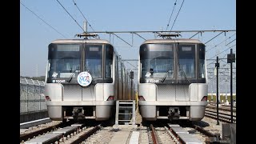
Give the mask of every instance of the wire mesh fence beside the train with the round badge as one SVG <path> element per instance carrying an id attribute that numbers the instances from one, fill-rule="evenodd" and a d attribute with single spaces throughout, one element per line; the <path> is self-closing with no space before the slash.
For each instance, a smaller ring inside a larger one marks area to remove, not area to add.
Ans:
<path id="1" fill-rule="evenodd" d="M 45 82 L 20 78 L 20 114 L 46 110 Z"/>

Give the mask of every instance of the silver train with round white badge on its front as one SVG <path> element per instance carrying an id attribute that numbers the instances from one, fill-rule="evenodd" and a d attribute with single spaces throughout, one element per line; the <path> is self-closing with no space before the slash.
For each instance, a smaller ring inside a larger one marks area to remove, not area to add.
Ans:
<path id="1" fill-rule="evenodd" d="M 131 97 L 128 74 L 106 40 L 54 40 L 48 46 L 44 93 L 50 119 L 110 119 L 116 100 Z"/>

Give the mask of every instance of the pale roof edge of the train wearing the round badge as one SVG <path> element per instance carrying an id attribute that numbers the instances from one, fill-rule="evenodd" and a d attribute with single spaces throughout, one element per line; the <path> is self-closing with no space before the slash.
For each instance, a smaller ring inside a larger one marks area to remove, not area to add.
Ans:
<path id="1" fill-rule="evenodd" d="M 105 39 L 56 39 L 51 43 L 104 43 L 112 45 Z"/>

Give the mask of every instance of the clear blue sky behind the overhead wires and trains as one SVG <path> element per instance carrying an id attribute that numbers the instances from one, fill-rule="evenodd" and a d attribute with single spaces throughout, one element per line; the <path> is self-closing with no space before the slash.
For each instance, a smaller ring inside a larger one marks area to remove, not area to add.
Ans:
<path id="1" fill-rule="evenodd" d="M 166 30 L 175 1 L 74 0 L 95 31 Z M 82 29 L 62 6 L 66 8 L 80 26 L 82 26 L 85 19 L 74 5 L 73 0 L 22 0 L 20 2 L 61 33 L 58 34 L 20 4 L 20 75 L 42 76 L 45 75 L 47 46 L 50 42 L 54 39 L 64 38 L 62 35 L 66 38 L 74 38 L 74 34 L 82 33 Z M 62 6 L 58 2 L 61 2 Z M 177 0 L 168 30 L 173 25 L 181 5 L 182 0 Z M 236 30 L 236 1 L 186 0 L 172 30 Z M 90 26 L 88 26 L 88 31 L 93 31 Z M 213 38 L 216 34 L 205 34 L 202 38 L 199 36 L 196 38 L 206 40 Z M 232 34 L 234 33 L 228 33 L 225 36 L 224 34 L 220 35 L 216 40 L 209 42 L 208 47 L 222 42 L 224 38 Z M 110 40 L 110 36 L 107 34 L 100 34 L 100 37 L 112 41 L 122 58 L 138 58 L 138 46 L 144 40 L 136 36 L 132 38 L 131 34 L 118 35 L 126 42 L 133 42 L 133 46 L 128 46 L 116 37 Z M 189 35 L 193 34 L 184 34 L 183 37 L 186 38 Z M 147 35 L 143 35 L 143 37 L 150 38 Z M 233 39 L 230 38 L 230 42 Z M 222 47 L 219 47 L 219 49 L 221 51 Z M 225 47 L 223 50 L 225 50 Z M 227 50 L 227 52 L 229 53 L 230 50 Z M 216 49 L 212 50 L 207 57 L 211 58 L 214 54 L 216 54 Z"/>

